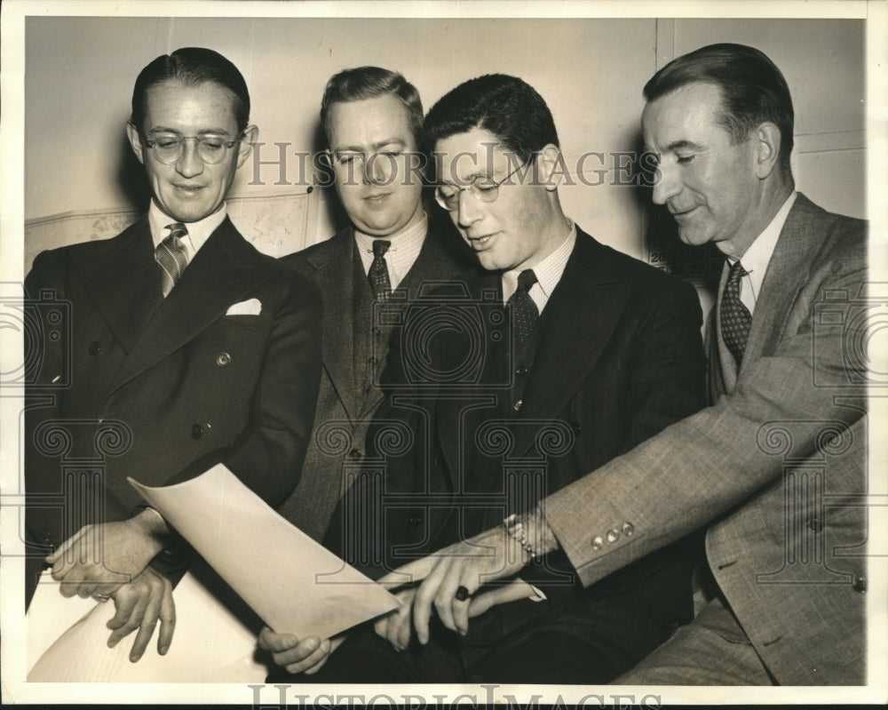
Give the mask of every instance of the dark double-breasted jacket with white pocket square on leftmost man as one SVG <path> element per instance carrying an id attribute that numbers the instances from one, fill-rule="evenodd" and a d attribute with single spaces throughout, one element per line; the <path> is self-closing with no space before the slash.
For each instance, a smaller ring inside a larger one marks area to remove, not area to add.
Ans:
<path id="1" fill-rule="evenodd" d="M 147 218 L 44 251 L 26 290 L 47 334 L 28 390 L 37 562 L 83 524 L 129 517 L 141 501 L 126 476 L 178 483 L 222 462 L 271 504 L 295 485 L 320 378 L 320 297 L 229 219 L 166 299 Z M 249 299 L 255 313 L 226 315 Z"/>

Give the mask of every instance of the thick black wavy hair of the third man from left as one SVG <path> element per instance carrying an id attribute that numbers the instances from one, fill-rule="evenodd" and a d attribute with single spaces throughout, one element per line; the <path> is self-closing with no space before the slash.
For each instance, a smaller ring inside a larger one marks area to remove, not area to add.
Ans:
<path id="1" fill-rule="evenodd" d="M 551 111 L 533 86 L 515 76 L 487 74 L 445 94 L 425 116 L 432 144 L 480 128 L 524 162 L 548 143 L 559 145 Z"/>

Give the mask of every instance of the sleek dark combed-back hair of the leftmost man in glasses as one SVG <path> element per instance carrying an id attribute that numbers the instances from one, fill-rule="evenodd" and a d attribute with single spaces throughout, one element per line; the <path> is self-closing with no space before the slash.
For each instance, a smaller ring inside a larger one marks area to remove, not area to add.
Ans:
<path id="1" fill-rule="evenodd" d="M 218 52 L 203 47 L 182 47 L 172 54 L 163 54 L 139 72 L 132 89 L 130 120 L 142 130 L 147 113 L 148 90 L 171 79 L 190 86 L 207 82 L 227 89 L 234 99 L 237 130 L 243 131 L 250 121 L 250 92 L 241 72 Z"/>

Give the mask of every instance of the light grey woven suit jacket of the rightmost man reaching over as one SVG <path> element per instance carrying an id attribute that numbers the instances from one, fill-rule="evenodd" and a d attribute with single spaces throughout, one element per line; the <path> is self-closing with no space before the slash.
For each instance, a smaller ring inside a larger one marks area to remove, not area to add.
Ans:
<path id="1" fill-rule="evenodd" d="M 798 195 L 739 371 L 710 323 L 712 405 L 546 501 L 587 585 L 709 524 L 718 587 L 781 684 L 866 674 L 866 231 Z"/>

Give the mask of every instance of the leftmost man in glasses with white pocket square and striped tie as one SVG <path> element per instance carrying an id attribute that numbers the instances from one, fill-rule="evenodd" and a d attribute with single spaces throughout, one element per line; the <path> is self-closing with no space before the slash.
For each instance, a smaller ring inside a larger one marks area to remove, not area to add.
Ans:
<path id="1" fill-rule="evenodd" d="M 226 215 L 258 134 L 249 115 L 241 73 L 217 52 L 152 61 L 127 124 L 153 195 L 147 215 L 112 239 L 44 251 L 26 280 L 31 299 L 70 308 L 69 339 L 47 341 L 28 391 L 27 599 L 44 558 L 62 594 L 114 597 L 109 643 L 138 628 L 133 661 L 158 619 L 158 651 L 169 647 L 168 577 L 190 559 L 126 477 L 164 485 L 222 464 L 275 505 L 311 432 L 319 295 Z M 70 386 L 54 392 L 67 372 Z M 78 458 L 103 471 L 64 475 Z"/>

